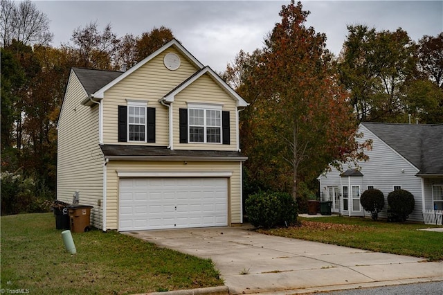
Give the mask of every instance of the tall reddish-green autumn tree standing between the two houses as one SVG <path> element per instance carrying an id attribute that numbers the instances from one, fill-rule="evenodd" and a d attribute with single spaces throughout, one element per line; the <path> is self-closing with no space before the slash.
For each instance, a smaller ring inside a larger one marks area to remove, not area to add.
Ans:
<path id="1" fill-rule="evenodd" d="M 251 103 L 242 114 L 249 122 L 242 141 L 249 170 L 266 171 L 264 181 L 294 199 L 298 181 L 316 177 L 328 163 L 362 156 L 326 37 L 305 26 L 308 15 L 300 2 L 282 6 L 260 57 L 246 58 L 253 78 L 241 93 Z"/>

